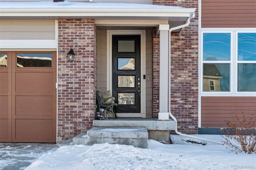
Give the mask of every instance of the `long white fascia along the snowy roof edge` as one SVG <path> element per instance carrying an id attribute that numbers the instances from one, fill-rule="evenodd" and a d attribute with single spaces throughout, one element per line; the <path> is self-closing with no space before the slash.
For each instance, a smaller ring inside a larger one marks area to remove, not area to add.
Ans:
<path id="1" fill-rule="evenodd" d="M 196 8 L 0 8 L 0 16 L 191 17 Z"/>

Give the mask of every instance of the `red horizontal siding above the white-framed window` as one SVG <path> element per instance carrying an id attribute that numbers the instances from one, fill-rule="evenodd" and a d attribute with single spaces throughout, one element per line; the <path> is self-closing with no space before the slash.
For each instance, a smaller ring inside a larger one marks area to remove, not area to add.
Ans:
<path id="1" fill-rule="evenodd" d="M 256 27 L 256 0 L 202 0 L 202 28 Z"/>

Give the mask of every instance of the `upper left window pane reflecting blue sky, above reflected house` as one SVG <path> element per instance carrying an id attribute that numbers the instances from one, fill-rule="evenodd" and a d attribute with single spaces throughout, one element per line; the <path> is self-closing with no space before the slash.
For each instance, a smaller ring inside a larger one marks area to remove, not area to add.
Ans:
<path id="1" fill-rule="evenodd" d="M 230 33 L 203 34 L 203 61 L 230 61 Z"/>

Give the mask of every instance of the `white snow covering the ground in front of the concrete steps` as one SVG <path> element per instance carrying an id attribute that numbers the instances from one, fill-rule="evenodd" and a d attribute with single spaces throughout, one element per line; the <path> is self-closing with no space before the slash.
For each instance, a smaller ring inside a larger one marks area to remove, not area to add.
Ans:
<path id="1" fill-rule="evenodd" d="M 194 136 L 222 140 L 220 135 Z M 171 135 L 171 139 L 174 144 L 148 140 L 148 149 L 108 143 L 61 146 L 56 151 L 43 154 L 25 170 L 256 169 L 256 154 L 236 154 L 226 146 L 184 136 Z"/>

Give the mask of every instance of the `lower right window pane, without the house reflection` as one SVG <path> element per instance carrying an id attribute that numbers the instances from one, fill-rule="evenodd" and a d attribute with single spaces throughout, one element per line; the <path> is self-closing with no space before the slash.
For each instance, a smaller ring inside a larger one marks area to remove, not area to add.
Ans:
<path id="1" fill-rule="evenodd" d="M 256 91 L 256 63 L 238 63 L 238 91 Z"/>

